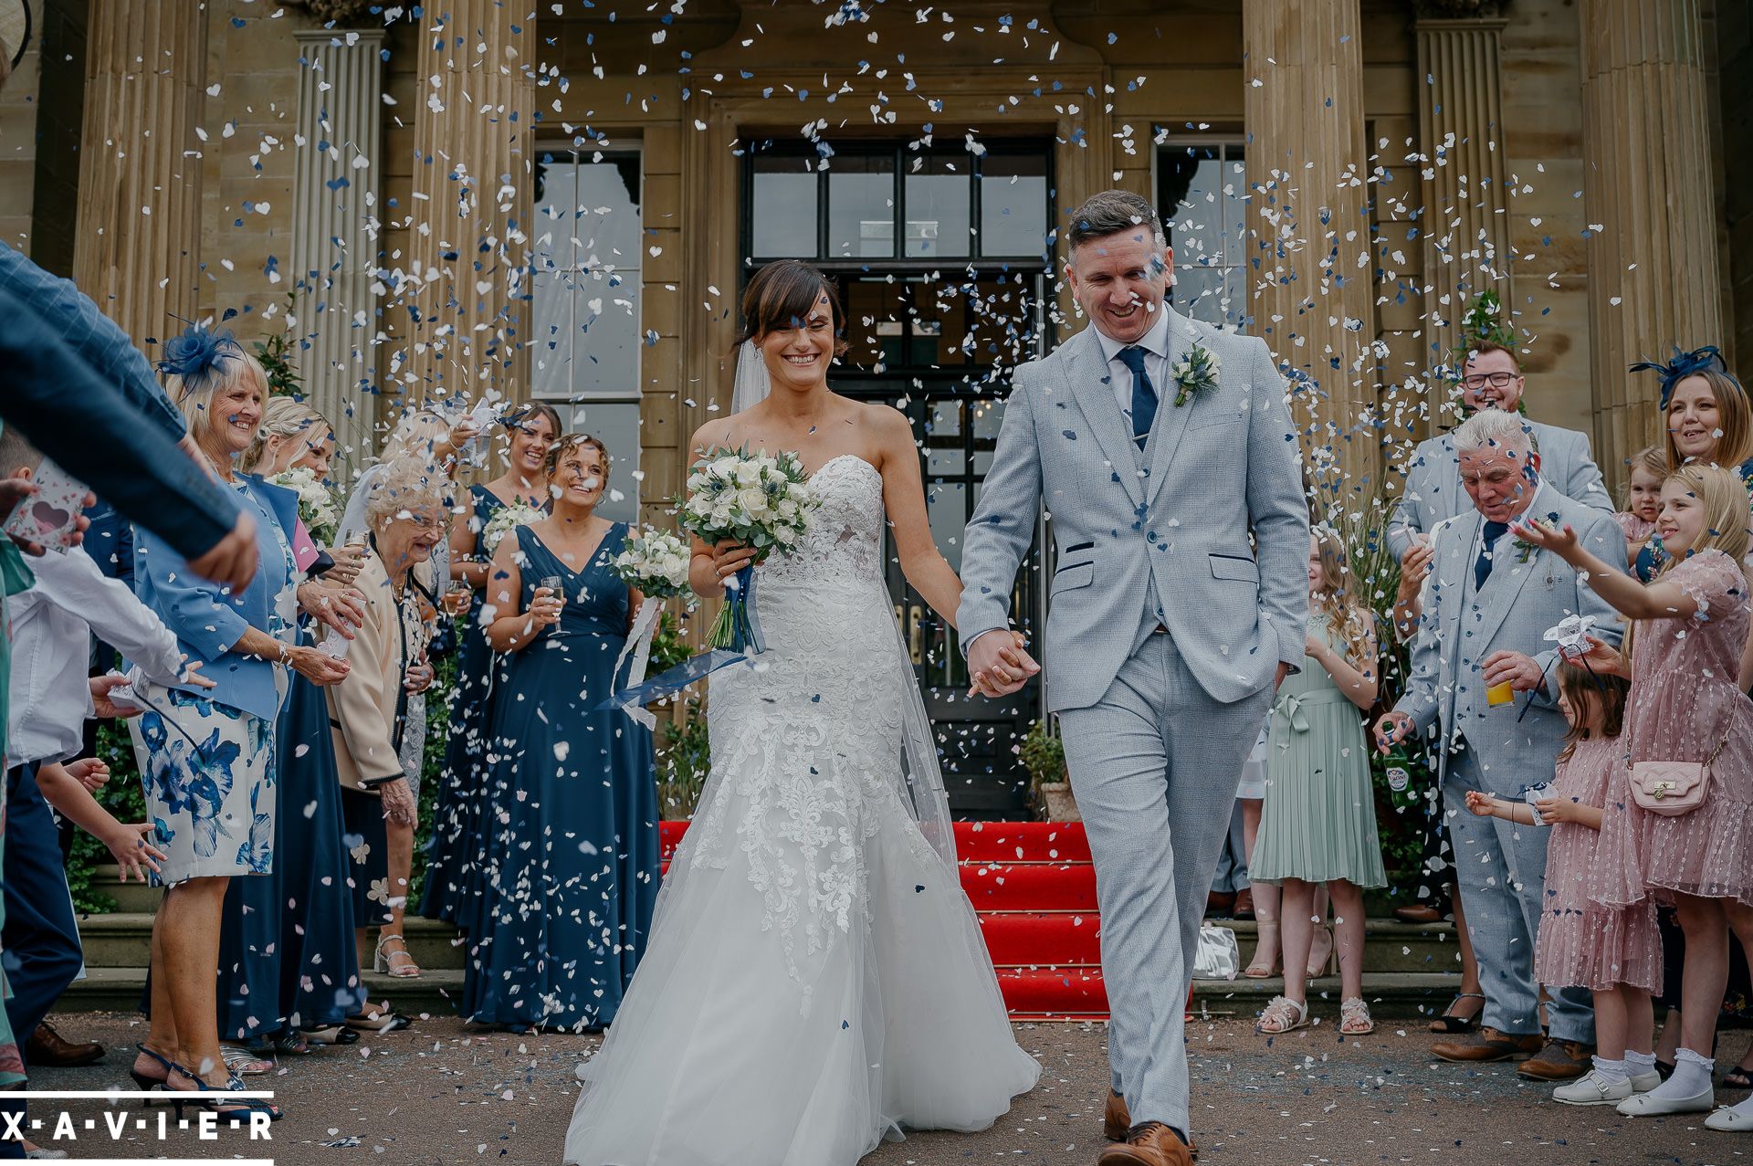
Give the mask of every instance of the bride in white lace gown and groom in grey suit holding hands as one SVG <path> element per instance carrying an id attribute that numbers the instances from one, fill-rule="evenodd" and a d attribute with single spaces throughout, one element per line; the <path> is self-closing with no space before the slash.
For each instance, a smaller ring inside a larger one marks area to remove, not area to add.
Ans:
<path id="1" fill-rule="evenodd" d="M 712 773 L 580 1066 L 566 1162 L 850 1166 L 901 1129 L 985 1129 L 1034 1087 L 961 891 L 882 554 L 887 526 L 975 689 L 1015 693 L 1040 672 L 1008 608 L 1043 507 L 1047 703 L 1096 861 L 1111 1010 L 1097 1161 L 1190 1162 L 1192 954 L 1241 763 L 1302 659 L 1308 510 L 1271 354 L 1167 307 L 1150 203 L 1096 195 L 1068 242 L 1090 326 L 1015 370 L 961 579 L 908 421 L 827 387 L 843 345 L 827 281 L 796 261 L 750 281 L 768 395 L 691 447 L 794 451 L 820 505 L 761 568 L 764 652 L 710 680 Z M 749 556 L 696 542 L 694 589 L 717 594 Z"/>

